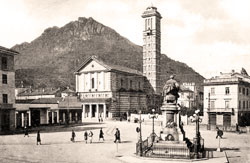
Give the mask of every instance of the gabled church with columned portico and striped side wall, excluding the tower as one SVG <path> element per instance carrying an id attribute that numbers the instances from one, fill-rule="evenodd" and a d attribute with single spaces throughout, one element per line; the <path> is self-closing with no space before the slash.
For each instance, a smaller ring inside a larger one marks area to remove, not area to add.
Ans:
<path id="1" fill-rule="evenodd" d="M 126 118 L 146 109 L 145 77 L 141 72 L 105 63 L 92 56 L 75 72 L 82 118 Z"/>

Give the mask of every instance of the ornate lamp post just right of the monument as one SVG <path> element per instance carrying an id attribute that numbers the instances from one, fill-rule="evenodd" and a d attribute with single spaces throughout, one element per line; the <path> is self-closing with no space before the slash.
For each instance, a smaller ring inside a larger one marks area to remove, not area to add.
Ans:
<path id="1" fill-rule="evenodd" d="M 195 138 L 194 138 L 194 157 L 197 159 L 199 158 L 199 151 L 200 151 L 200 147 L 201 147 L 201 135 L 200 135 L 200 126 L 199 123 L 202 121 L 202 119 L 199 117 L 199 112 L 200 110 L 196 110 L 195 114 L 193 115 L 195 117 L 194 120 L 192 120 L 192 122 L 196 123 L 196 134 L 195 134 Z"/>

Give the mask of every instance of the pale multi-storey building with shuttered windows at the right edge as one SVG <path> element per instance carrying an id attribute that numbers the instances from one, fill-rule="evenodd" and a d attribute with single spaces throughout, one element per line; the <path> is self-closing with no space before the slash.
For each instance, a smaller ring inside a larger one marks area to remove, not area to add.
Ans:
<path id="1" fill-rule="evenodd" d="M 204 123 L 210 128 L 250 125 L 250 77 L 232 71 L 204 80 Z"/>

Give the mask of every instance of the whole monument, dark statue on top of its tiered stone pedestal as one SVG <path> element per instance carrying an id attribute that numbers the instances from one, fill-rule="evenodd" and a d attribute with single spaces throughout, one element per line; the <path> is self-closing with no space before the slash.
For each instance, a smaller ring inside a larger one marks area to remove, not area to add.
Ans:
<path id="1" fill-rule="evenodd" d="M 180 123 L 180 107 L 177 104 L 180 90 L 174 75 L 166 81 L 163 87 L 162 131 L 158 140 L 152 146 L 152 156 L 171 158 L 190 158 L 190 149 L 185 140 L 185 132 Z"/>

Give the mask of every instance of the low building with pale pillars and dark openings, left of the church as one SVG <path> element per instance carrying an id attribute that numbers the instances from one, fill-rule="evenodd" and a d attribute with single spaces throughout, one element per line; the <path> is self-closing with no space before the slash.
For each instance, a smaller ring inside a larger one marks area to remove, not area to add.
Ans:
<path id="1" fill-rule="evenodd" d="M 53 88 L 17 88 L 16 127 L 59 123 L 61 92 Z"/>

